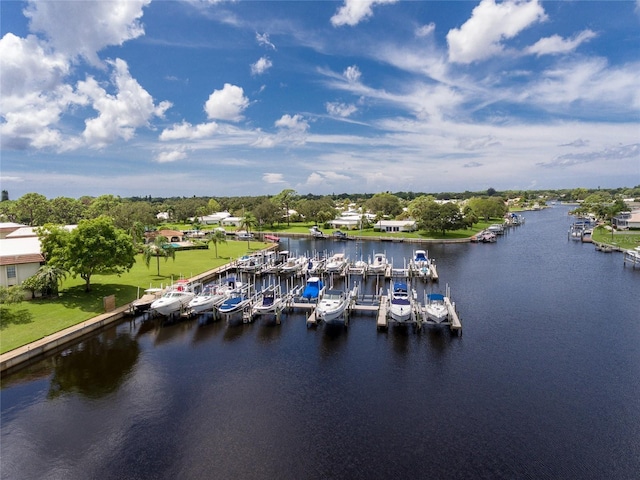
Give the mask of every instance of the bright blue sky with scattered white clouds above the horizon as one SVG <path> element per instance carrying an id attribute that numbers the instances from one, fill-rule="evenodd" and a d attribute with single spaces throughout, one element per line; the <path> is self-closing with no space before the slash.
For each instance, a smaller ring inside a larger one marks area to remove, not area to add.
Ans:
<path id="1" fill-rule="evenodd" d="M 640 184 L 640 0 L 0 9 L 12 199 Z"/>

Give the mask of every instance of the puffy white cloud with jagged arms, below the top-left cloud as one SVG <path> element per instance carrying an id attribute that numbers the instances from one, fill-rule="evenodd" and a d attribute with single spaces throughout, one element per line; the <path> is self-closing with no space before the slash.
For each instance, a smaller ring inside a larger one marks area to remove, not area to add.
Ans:
<path id="1" fill-rule="evenodd" d="M 85 120 L 83 137 L 90 147 L 102 148 L 117 138 L 130 140 L 136 128 L 148 126 L 152 117 L 162 117 L 171 106 L 169 102 L 155 105 L 151 95 L 131 76 L 124 60 L 109 64 L 113 67 L 115 95 L 108 94 L 92 77 L 78 82 L 78 92 L 90 99 L 99 113 Z"/>

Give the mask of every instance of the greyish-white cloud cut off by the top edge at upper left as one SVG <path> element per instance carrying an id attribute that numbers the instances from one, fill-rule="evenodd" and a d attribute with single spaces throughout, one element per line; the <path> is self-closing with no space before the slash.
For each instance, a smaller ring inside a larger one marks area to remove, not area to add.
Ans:
<path id="1" fill-rule="evenodd" d="M 53 48 L 98 64 L 97 52 L 144 34 L 142 9 L 151 0 L 108 2 L 32 1 L 25 10 L 30 30 L 42 33 Z"/>

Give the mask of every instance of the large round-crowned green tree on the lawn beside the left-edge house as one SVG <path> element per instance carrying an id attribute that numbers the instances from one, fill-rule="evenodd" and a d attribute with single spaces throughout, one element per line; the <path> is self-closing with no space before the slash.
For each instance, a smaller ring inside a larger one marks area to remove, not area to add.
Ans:
<path id="1" fill-rule="evenodd" d="M 82 220 L 71 232 L 46 225 L 38 229 L 38 237 L 47 264 L 68 271 L 73 278 L 79 275 L 87 292 L 92 275 L 119 275 L 135 262 L 131 237 L 106 216 Z"/>

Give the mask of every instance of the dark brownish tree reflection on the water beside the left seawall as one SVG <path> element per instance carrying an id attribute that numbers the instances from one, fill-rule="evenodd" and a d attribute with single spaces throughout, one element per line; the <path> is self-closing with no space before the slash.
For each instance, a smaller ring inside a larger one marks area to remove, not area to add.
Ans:
<path id="1" fill-rule="evenodd" d="M 97 399 L 118 390 L 133 370 L 140 347 L 115 329 L 90 338 L 55 357 L 47 398 L 78 393 Z"/>

